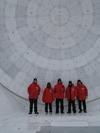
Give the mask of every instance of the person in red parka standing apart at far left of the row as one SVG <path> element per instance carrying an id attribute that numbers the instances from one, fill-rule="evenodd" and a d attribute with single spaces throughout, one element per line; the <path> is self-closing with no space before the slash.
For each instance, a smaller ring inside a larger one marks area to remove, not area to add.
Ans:
<path id="1" fill-rule="evenodd" d="M 39 114 L 37 110 L 37 99 L 40 95 L 40 86 L 37 84 L 37 79 L 34 78 L 33 83 L 29 85 L 27 91 L 29 94 L 29 102 L 30 102 L 30 109 L 29 114 L 32 114 L 33 111 L 33 103 L 34 103 L 34 113 Z"/>

